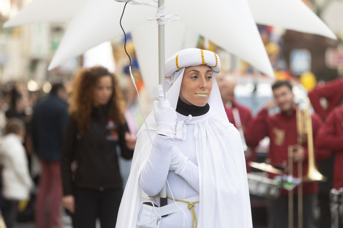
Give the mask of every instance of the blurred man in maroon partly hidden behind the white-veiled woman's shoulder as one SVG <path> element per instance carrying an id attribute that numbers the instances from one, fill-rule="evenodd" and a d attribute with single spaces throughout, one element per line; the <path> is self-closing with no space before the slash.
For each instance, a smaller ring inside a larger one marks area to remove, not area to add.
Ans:
<path id="1" fill-rule="evenodd" d="M 246 106 L 238 104 L 235 100 L 235 86 L 236 79 L 233 76 L 218 75 L 218 86 L 222 96 L 224 109 L 229 119 L 229 122 L 234 124 L 238 130 L 246 131 L 248 124 L 251 121 L 250 109 Z M 244 137 L 244 136 L 243 136 Z M 243 140 L 245 140 L 243 138 Z M 249 161 L 255 161 L 257 153 L 254 147 L 247 147 L 244 151 L 247 172 L 250 172 L 251 167 L 248 165 Z"/>

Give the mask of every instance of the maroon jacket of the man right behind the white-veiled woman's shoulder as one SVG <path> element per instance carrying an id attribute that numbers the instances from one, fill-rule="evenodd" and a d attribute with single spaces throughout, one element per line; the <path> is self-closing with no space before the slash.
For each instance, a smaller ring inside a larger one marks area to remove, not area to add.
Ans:
<path id="1" fill-rule="evenodd" d="M 238 109 L 240 122 L 242 124 L 242 129 L 243 129 L 243 132 L 245 134 L 245 131 L 246 131 L 246 129 L 247 129 L 247 127 L 251 121 L 250 109 L 248 107 L 243 106 L 243 105 L 239 105 L 236 101 L 234 101 L 232 103 L 232 108 Z M 227 108 L 224 105 L 224 109 L 225 109 L 227 118 L 229 119 L 229 122 L 234 124 L 234 126 L 237 128 L 235 120 L 234 120 L 232 108 Z M 248 165 L 249 161 L 255 161 L 255 159 L 257 157 L 257 152 L 255 151 L 255 147 L 252 147 L 250 149 L 251 149 L 251 151 L 250 151 L 251 155 L 249 157 L 245 158 L 247 172 L 250 172 L 250 170 L 251 170 L 251 167 Z"/>

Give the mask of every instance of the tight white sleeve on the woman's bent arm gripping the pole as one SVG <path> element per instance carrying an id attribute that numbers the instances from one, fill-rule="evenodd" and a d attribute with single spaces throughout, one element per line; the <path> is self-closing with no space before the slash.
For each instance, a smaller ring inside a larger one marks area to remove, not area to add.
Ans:
<path id="1" fill-rule="evenodd" d="M 145 166 L 139 176 L 143 191 L 154 196 L 161 191 L 169 172 L 174 136 L 156 135 L 154 144 Z"/>

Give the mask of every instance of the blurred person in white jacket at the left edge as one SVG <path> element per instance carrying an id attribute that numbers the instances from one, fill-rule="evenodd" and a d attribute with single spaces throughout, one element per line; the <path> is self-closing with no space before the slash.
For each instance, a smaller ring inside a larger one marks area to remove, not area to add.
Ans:
<path id="1" fill-rule="evenodd" d="M 10 118 L 0 144 L 3 166 L 2 196 L 4 198 L 1 211 L 7 228 L 14 227 L 19 200 L 28 199 L 30 189 L 33 187 L 26 152 L 22 144 L 24 135 L 25 123 L 21 119 Z"/>

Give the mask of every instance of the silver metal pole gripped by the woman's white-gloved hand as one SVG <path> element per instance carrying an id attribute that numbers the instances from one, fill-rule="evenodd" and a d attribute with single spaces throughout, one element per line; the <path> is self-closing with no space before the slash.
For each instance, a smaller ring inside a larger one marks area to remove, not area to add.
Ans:
<path id="1" fill-rule="evenodd" d="M 164 4 L 164 0 L 158 0 L 158 7 Z M 162 85 L 164 97 L 165 91 L 165 75 L 164 75 L 164 25 L 158 25 L 158 84 Z M 167 205 L 167 184 L 165 183 L 161 190 L 160 206 Z M 167 215 L 165 215 L 167 216 Z"/>

